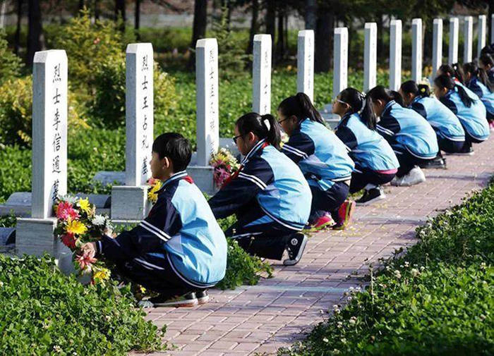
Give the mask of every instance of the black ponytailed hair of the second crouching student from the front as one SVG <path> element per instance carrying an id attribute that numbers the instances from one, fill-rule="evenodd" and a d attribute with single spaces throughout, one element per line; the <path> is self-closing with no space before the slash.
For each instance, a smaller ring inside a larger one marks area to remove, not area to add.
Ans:
<path id="1" fill-rule="evenodd" d="M 260 140 L 266 139 L 268 143 L 279 149 L 281 133 L 279 123 L 270 113 L 261 116 L 258 113 L 246 113 L 241 116 L 235 123 L 241 135 L 253 133 Z"/>

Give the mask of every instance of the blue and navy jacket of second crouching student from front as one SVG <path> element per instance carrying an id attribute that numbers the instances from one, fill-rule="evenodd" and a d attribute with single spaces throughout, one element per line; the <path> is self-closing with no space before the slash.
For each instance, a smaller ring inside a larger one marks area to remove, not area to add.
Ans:
<path id="1" fill-rule="evenodd" d="M 251 229 L 275 223 L 295 232 L 301 231 L 307 223 L 311 200 L 311 189 L 299 167 L 265 140 L 260 140 L 245 156 L 239 171 L 209 204 L 217 218 L 261 209 L 264 215 L 249 223 Z"/>

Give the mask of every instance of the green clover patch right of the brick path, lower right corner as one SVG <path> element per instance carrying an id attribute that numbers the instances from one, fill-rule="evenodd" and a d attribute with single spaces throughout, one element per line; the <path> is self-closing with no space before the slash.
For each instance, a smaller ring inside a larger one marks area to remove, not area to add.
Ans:
<path id="1" fill-rule="evenodd" d="M 279 355 L 494 355 L 493 231 L 491 183 L 417 228 L 417 245 Z"/>

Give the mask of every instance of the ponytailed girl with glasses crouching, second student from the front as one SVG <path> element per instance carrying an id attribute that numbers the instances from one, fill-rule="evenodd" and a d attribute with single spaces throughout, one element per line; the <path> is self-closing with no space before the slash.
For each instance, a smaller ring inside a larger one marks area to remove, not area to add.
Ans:
<path id="1" fill-rule="evenodd" d="M 247 113 L 236 121 L 234 142 L 244 156 L 241 168 L 209 201 L 217 219 L 236 214 L 225 235 L 250 254 L 299 262 L 307 237 L 311 189 L 299 167 L 279 152 L 279 125 L 272 115 Z"/>

